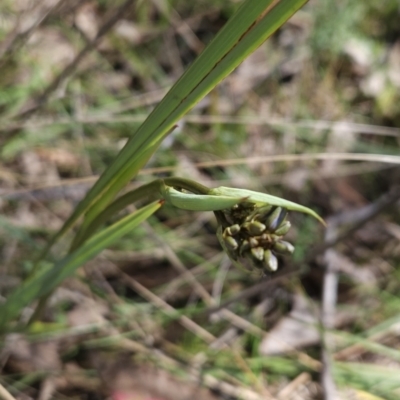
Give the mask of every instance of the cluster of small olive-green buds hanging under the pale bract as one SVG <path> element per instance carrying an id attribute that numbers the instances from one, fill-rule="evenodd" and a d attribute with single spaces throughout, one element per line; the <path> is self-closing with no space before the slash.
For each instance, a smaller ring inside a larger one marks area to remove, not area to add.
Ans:
<path id="1" fill-rule="evenodd" d="M 234 260 L 246 259 L 265 273 L 278 269 L 277 254 L 292 254 L 294 246 L 282 240 L 289 231 L 287 210 L 243 202 L 224 211 L 227 226 L 222 240 Z"/>

